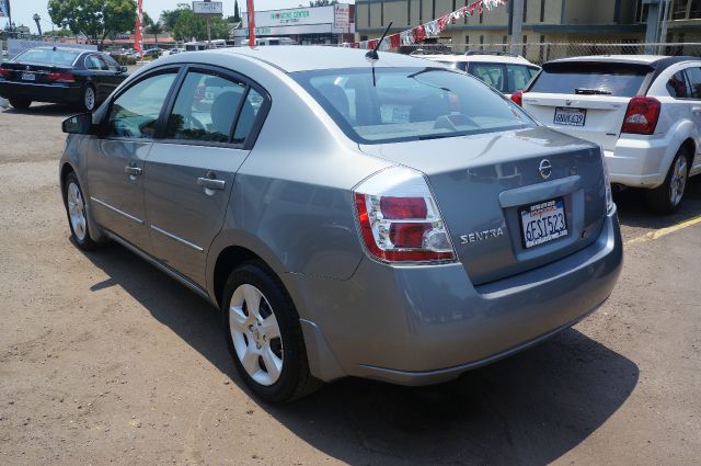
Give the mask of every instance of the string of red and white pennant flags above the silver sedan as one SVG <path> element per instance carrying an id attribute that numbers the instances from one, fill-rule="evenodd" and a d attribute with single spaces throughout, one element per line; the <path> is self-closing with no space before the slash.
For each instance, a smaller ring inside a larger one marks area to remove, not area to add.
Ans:
<path id="1" fill-rule="evenodd" d="M 450 24 L 455 24 L 458 20 L 467 16 L 473 16 L 475 14 L 482 14 L 485 10 L 491 11 L 496 7 L 505 4 L 507 0 L 478 0 L 460 9 L 444 14 L 433 21 L 424 24 L 420 24 L 411 30 L 402 31 L 401 33 L 388 35 L 380 45 L 380 50 L 389 50 L 391 48 L 399 48 L 402 45 L 421 44 L 427 38 L 438 36 Z M 350 47 L 353 48 L 370 48 L 374 49 L 379 43 L 378 38 L 363 42 L 353 42 Z"/>

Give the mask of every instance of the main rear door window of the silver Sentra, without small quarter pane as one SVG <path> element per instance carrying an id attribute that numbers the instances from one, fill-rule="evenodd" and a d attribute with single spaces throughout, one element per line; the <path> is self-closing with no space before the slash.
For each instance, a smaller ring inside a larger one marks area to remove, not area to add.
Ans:
<path id="1" fill-rule="evenodd" d="M 188 72 L 168 120 L 165 138 L 228 143 L 244 93 L 242 82 Z"/>

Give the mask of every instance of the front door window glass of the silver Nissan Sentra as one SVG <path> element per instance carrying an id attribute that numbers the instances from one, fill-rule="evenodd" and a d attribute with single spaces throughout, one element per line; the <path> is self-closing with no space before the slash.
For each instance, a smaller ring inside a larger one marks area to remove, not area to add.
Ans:
<path id="1" fill-rule="evenodd" d="M 112 103 L 107 135 L 153 138 L 158 117 L 173 81 L 175 71 L 151 76 L 127 89 Z"/>

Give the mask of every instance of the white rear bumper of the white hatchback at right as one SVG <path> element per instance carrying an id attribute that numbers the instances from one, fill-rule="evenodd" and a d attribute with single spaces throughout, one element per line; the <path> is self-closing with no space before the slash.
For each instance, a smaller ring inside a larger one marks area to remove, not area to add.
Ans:
<path id="1" fill-rule="evenodd" d="M 605 150 L 611 183 L 654 189 L 665 182 L 671 158 L 679 147 L 670 137 L 621 137 L 614 150 Z M 670 156 L 671 155 L 671 156 Z"/>

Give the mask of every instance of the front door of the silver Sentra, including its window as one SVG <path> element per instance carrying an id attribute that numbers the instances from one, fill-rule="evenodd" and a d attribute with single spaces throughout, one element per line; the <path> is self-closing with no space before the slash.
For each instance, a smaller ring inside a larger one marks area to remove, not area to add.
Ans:
<path id="1" fill-rule="evenodd" d="M 143 163 L 176 72 L 164 70 L 129 87 L 105 115 L 105 137 L 85 141 L 88 190 L 95 220 L 147 251 Z"/>

